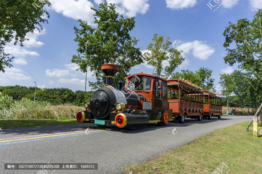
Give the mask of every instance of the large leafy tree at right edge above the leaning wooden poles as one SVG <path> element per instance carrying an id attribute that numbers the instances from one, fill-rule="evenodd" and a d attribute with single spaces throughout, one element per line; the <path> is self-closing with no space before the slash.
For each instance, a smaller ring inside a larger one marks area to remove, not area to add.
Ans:
<path id="1" fill-rule="evenodd" d="M 262 98 L 262 14 L 258 9 L 254 15 L 254 19 L 238 20 L 237 24 L 229 22 L 223 35 L 225 42 L 223 46 L 228 51 L 224 57 L 225 63 L 230 66 L 236 62 L 240 63 L 239 68 L 251 73 L 258 82 L 258 95 L 256 99 Z M 230 44 L 234 42 L 236 48 L 230 49 Z"/>

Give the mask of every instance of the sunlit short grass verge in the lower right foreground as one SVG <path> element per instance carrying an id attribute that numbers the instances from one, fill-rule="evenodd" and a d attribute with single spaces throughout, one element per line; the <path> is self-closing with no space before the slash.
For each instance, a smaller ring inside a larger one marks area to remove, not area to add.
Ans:
<path id="1" fill-rule="evenodd" d="M 253 124 L 244 131 L 248 123 L 216 129 L 151 161 L 124 169 L 132 174 L 210 174 L 224 162 L 227 168 L 223 168 L 222 174 L 261 174 L 262 136 L 253 137 Z"/>

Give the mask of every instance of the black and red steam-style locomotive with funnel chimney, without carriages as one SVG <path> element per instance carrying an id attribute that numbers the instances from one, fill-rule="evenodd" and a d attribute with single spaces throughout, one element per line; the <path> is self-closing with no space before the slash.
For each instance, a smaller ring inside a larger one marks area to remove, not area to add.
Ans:
<path id="1" fill-rule="evenodd" d="M 116 124 L 119 128 L 135 129 L 157 122 L 164 126 L 172 121 L 172 109 L 167 99 L 168 80 L 155 75 L 139 74 L 125 77 L 118 89 L 112 87 L 112 77 L 118 72 L 115 64 L 103 64 L 106 85 L 96 89 L 83 111 L 77 113 L 78 122 L 100 127 Z"/>

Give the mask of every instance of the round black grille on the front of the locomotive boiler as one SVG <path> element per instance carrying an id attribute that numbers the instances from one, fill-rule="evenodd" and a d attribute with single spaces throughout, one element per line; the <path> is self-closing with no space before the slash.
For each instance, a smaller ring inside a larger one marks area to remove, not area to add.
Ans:
<path id="1" fill-rule="evenodd" d="M 109 110 L 109 97 L 104 91 L 96 91 L 91 96 L 90 109 L 95 117 L 103 118 L 107 116 Z"/>

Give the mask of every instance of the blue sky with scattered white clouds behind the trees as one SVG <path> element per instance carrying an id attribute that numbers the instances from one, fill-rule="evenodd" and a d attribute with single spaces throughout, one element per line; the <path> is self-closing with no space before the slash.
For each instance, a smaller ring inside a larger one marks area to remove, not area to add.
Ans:
<path id="1" fill-rule="evenodd" d="M 50 0 L 49 0 L 50 1 Z M 69 88 L 73 91 L 85 90 L 86 74 L 72 64 L 72 56 L 77 55 L 77 42 L 74 27 L 81 28 L 77 20 L 87 21 L 92 27 L 94 11 L 102 0 L 51 0 L 48 23 L 43 30 L 28 33 L 24 46 L 9 43 L 5 51 L 13 55 L 13 67 L 0 72 L 0 86 L 35 86 L 39 88 Z M 170 47 L 183 50 L 185 61 L 176 68 L 180 72 L 188 69 L 193 72 L 205 67 L 213 70 L 215 89 L 221 93 L 219 74 L 231 73 L 238 64 L 225 64 L 226 48 L 223 47 L 223 32 L 229 22 L 239 19 L 252 20 L 256 9 L 262 7 L 259 0 L 108 0 L 116 4 L 116 11 L 124 18 L 135 17 L 135 27 L 130 36 L 139 39 L 136 48 L 146 51 L 153 43 L 154 34 L 170 37 Z M 30 8 L 38 8 L 33 5 Z M 232 46 L 233 48 L 233 46 Z M 166 66 L 167 62 L 163 62 Z M 152 74 L 154 68 L 146 63 L 133 67 L 130 74 Z M 95 81 L 88 69 L 87 81 Z M 86 85 L 86 90 L 91 87 Z"/>

